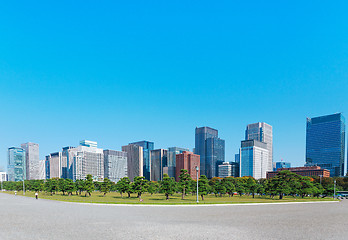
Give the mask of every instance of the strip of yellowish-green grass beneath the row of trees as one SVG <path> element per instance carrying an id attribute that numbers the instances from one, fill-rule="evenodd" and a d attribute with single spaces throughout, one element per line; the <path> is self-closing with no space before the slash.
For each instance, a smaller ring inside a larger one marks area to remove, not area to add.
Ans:
<path id="1" fill-rule="evenodd" d="M 6 191 L 5 193 L 14 194 L 13 191 Z M 17 195 L 23 196 L 23 193 L 17 192 Z M 35 197 L 34 192 L 27 191 L 25 193 L 26 197 Z M 57 193 L 51 196 L 49 193 L 40 192 L 39 199 L 49 199 L 56 201 L 64 201 L 64 202 L 82 202 L 82 203 L 104 203 L 104 204 L 156 204 L 156 205 L 179 205 L 179 204 L 197 204 L 196 196 L 192 196 L 188 194 L 184 200 L 181 199 L 181 194 L 173 194 L 170 196 L 169 200 L 165 199 L 164 194 L 142 194 L 143 201 L 140 202 L 136 197 L 136 194 L 132 194 L 130 198 L 128 198 L 127 194 L 123 194 L 123 197 L 119 193 L 110 192 L 103 196 L 103 193 L 93 192 L 92 196 L 85 197 L 85 194 L 82 193 L 79 195 L 63 195 L 62 193 Z M 215 197 L 215 195 L 207 195 L 204 196 L 204 201 L 199 198 L 199 204 L 236 204 L 236 203 L 281 203 L 281 202 L 312 202 L 312 201 L 335 201 L 332 198 L 298 198 L 286 196 L 282 200 L 279 200 L 278 197 L 272 199 L 268 196 L 256 196 L 253 198 L 252 196 L 243 195 L 243 196 L 233 196 L 228 197 L 225 195 L 223 197 Z"/>

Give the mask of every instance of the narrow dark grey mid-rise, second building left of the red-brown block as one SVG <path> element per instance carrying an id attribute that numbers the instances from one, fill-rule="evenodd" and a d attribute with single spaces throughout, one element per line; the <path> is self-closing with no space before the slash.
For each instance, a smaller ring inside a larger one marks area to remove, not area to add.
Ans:
<path id="1" fill-rule="evenodd" d="M 163 168 L 167 167 L 168 150 L 156 149 L 150 152 L 151 157 L 151 181 L 161 181 L 163 179 Z"/>

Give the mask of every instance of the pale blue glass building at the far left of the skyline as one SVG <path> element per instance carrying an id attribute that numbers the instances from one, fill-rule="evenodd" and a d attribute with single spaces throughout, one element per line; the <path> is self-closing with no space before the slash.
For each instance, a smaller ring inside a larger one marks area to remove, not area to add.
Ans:
<path id="1" fill-rule="evenodd" d="M 8 149 L 8 180 L 23 181 L 26 179 L 26 154 L 23 148 Z"/>

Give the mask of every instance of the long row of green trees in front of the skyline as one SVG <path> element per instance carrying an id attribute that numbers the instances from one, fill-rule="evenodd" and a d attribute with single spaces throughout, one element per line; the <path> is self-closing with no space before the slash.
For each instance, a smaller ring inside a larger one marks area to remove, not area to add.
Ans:
<path id="1" fill-rule="evenodd" d="M 291 196 L 314 196 L 325 197 L 332 196 L 334 193 L 334 180 L 337 183 L 337 190 L 348 190 L 348 178 L 319 178 L 319 177 L 302 177 L 290 171 L 281 171 L 271 179 L 255 180 L 252 177 L 226 177 L 212 178 L 208 180 L 206 176 L 200 176 L 198 180 L 198 193 L 204 200 L 207 194 L 214 194 L 216 197 L 222 197 L 226 194 L 233 197 L 234 194 L 243 194 L 259 196 L 279 196 L 280 199 L 285 195 Z M 135 177 L 133 182 L 128 177 L 122 178 L 117 183 L 105 178 L 103 182 L 95 182 L 91 175 L 87 175 L 85 180 L 53 178 L 47 180 L 27 180 L 24 181 L 25 189 L 29 191 L 45 191 L 51 195 L 62 192 L 63 195 L 82 195 L 90 196 L 93 191 L 100 191 L 104 196 L 110 192 L 119 192 L 121 197 L 127 193 L 128 197 L 131 194 L 137 194 L 139 199 L 143 193 L 150 194 L 162 193 L 166 199 L 170 195 L 180 192 L 182 199 L 187 194 L 196 194 L 197 181 L 193 180 L 187 170 L 182 169 L 179 176 L 179 181 L 170 178 L 164 174 L 163 180 L 159 182 L 147 181 L 144 177 Z M 3 182 L 3 189 L 17 190 L 23 189 L 22 182 Z"/>

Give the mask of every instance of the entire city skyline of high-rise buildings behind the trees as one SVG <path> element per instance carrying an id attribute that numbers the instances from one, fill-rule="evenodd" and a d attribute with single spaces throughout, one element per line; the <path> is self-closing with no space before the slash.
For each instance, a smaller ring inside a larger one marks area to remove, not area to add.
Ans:
<path id="1" fill-rule="evenodd" d="M 181 169 L 193 179 L 199 175 L 213 177 L 243 177 L 255 179 L 273 177 L 281 170 L 303 176 L 343 176 L 345 170 L 345 119 L 341 113 L 307 118 L 306 164 L 291 168 L 290 162 L 273 161 L 273 128 L 258 122 L 248 124 L 245 139 L 233 161 L 225 160 L 225 140 L 210 127 L 195 129 L 195 148 L 169 147 L 155 149 L 154 142 L 138 141 L 122 146 L 121 151 L 98 148 L 97 142 L 83 140 L 77 147 L 39 158 L 39 144 L 24 143 L 8 148 L 8 171 L 0 172 L 1 181 L 25 179 L 68 178 L 85 179 L 91 174 L 95 181 L 109 178 L 113 182 L 123 177 L 131 181 L 144 176 L 160 181 L 164 174 L 178 180 Z"/>

